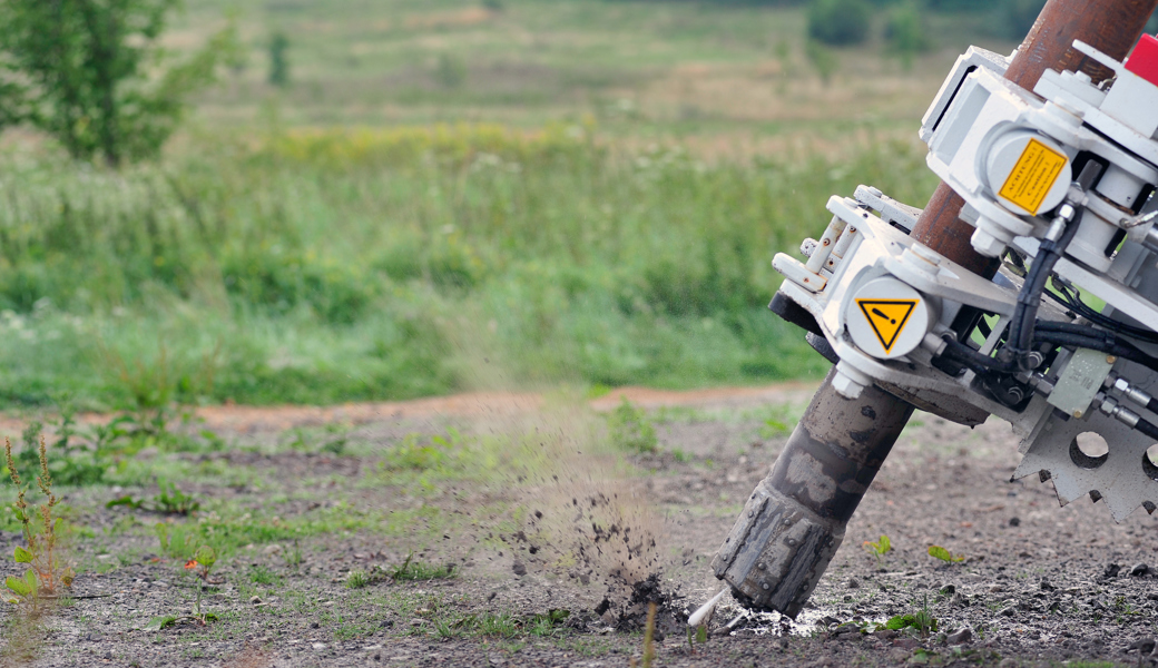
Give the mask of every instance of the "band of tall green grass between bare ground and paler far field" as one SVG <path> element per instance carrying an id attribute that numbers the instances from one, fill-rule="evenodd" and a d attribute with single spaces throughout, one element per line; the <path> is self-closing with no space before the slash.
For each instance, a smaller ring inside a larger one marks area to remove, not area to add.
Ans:
<path id="1" fill-rule="evenodd" d="M 237 137 L 119 174 L 0 156 L 0 404 L 336 403 L 479 384 L 691 387 L 827 366 L 769 266 L 921 154 L 705 163 L 580 126 Z"/>

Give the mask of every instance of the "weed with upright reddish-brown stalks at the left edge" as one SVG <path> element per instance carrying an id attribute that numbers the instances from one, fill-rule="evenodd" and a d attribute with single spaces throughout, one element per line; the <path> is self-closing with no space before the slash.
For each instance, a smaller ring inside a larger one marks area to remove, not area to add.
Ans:
<path id="1" fill-rule="evenodd" d="M 13 509 L 16 512 L 24 537 L 24 546 L 16 546 L 13 559 L 17 564 L 28 566 L 22 578 L 10 577 L 6 580 L 5 583 L 12 593 L 6 599 L 9 603 L 29 602 L 35 605 L 44 596 L 54 597 L 58 587 L 72 587 L 72 566 L 60 557 L 57 549 L 59 520 L 53 517 L 52 513 L 59 501 L 52 493 L 52 476 L 49 475 L 49 454 L 44 436 L 41 436 L 39 455 L 41 475 L 36 477 L 36 486 L 45 500 L 39 506 L 32 507 L 24 498 L 28 485 L 20 479 L 16 462 L 12 456 L 12 441 L 5 439 L 8 476 L 16 486 Z"/>

